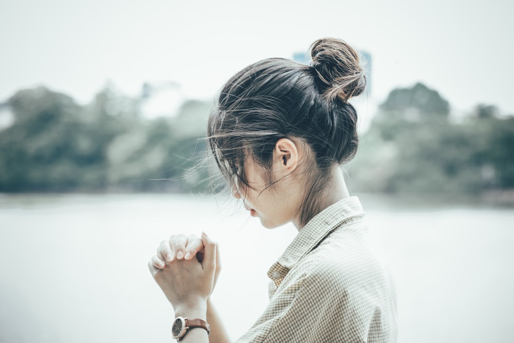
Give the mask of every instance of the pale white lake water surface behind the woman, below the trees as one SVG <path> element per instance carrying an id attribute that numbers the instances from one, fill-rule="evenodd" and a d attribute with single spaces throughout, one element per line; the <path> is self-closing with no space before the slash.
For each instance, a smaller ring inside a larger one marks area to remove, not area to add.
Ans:
<path id="1" fill-rule="evenodd" d="M 406 342 L 512 341 L 514 211 L 361 198 L 395 275 Z M 0 342 L 171 341 L 147 262 L 173 233 L 221 245 L 214 302 L 233 339 L 267 302 L 266 272 L 295 236 L 188 195 L 0 195 Z"/>

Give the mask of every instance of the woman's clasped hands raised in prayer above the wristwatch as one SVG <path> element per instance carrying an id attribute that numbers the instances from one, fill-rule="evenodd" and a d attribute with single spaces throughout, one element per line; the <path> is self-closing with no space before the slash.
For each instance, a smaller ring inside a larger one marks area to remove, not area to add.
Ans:
<path id="1" fill-rule="evenodd" d="M 161 242 L 148 267 L 175 311 L 207 302 L 221 270 L 217 248 L 205 233 Z"/>

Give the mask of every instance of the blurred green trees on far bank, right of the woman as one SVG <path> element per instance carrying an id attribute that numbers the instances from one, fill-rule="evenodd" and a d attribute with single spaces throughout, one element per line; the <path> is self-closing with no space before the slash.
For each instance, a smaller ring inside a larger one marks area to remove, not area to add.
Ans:
<path id="1" fill-rule="evenodd" d="M 392 91 L 348 166 L 354 189 L 477 194 L 514 188 L 514 117 L 479 105 L 453 123 L 448 111 L 448 102 L 424 85 Z"/>

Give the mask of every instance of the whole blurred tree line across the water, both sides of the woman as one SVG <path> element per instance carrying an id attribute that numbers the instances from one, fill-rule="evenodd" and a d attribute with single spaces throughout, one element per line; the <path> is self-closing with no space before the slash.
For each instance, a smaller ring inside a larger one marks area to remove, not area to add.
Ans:
<path id="1" fill-rule="evenodd" d="M 8 100 L 0 192 L 199 191 L 212 103 L 190 100 L 144 119 L 138 100 L 106 88 L 88 105 L 45 87 Z M 514 189 L 514 117 L 478 105 L 461 120 L 423 84 L 394 89 L 347 166 L 355 191 L 478 194 Z M 160 180 L 156 180 L 160 179 Z M 163 180 L 165 179 L 165 180 Z"/>

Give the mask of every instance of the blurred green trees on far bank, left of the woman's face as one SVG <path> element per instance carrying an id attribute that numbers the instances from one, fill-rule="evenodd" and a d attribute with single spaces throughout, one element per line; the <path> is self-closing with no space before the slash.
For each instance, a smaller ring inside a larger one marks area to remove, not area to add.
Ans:
<path id="1" fill-rule="evenodd" d="M 15 120 L 0 131 L 0 192 L 206 187 L 206 170 L 197 170 L 194 187 L 186 175 L 197 164 L 193 156 L 206 149 L 196 125 L 206 127 L 209 103 L 194 102 L 176 118 L 146 121 L 136 100 L 108 88 L 80 106 L 39 87 L 17 92 L 9 106 Z M 188 115 L 195 128 L 187 126 Z"/>

